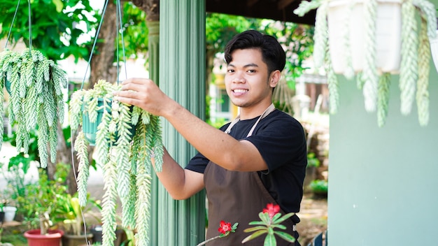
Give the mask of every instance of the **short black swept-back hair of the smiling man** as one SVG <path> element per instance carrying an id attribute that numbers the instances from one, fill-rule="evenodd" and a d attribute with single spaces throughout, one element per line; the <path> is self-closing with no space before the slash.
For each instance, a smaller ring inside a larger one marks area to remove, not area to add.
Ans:
<path id="1" fill-rule="evenodd" d="M 231 53 L 234 50 L 260 49 L 262 60 L 268 66 L 268 73 L 272 71 L 283 71 L 286 63 L 286 55 L 280 43 L 273 36 L 261 34 L 259 31 L 248 30 L 237 34 L 225 46 L 225 61 L 229 64 L 232 61 Z"/>

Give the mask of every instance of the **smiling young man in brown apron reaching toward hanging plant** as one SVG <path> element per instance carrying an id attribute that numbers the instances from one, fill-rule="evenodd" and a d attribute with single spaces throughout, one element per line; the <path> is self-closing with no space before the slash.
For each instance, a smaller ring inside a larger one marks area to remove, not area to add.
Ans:
<path id="1" fill-rule="evenodd" d="M 272 105 L 274 87 L 285 66 L 285 52 L 272 36 L 258 31 L 236 35 L 225 48 L 225 86 L 240 115 L 220 129 L 206 124 L 165 95 L 153 81 L 132 78 L 123 82 L 116 99 L 139 106 L 168 120 L 198 151 L 184 169 L 164 151 L 158 178 L 175 199 L 206 189 L 209 230 L 218 236 L 220 221 L 239 223 L 236 232 L 208 245 L 240 245 L 250 233 L 243 230 L 268 203 L 281 213 L 299 212 L 306 170 L 306 139 L 302 125 Z M 295 215 L 283 222 L 297 238 Z M 264 236 L 246 245 L 262 245 Z M 277 245 L 294 245 L 277 238 Z M 299 243 L 295 243 L 299 245 Z"/>

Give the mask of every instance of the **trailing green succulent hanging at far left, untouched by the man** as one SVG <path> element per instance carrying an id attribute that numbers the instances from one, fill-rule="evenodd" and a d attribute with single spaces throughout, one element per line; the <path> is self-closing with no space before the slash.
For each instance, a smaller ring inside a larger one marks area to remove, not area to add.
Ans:
<path id="1" fill-rule="evenodd" d="M 50 160 L 55 162 L 57 146 L 57 123 L 64 120 L 62 88 L 67 86 L 67 77 L 54 61 L 47 59 L 38 50 L 0 53 L 0 102 L 3 102 L 3 87 L 8 90 L 9 122 L 17 128 L 17 150 L 27 154 L 31 129 L 37 129 L 40 164 L 45 168 Z M 3 106 L 0 106 L 3 115 Z M 3 117 L 0 117 L 3 126 Z M 3 127 L 0 127 L 0 136 Z M 0 138 L 0 149 L 2 140 Z M 50 153 L 48 151 L 50 149 Z"/>

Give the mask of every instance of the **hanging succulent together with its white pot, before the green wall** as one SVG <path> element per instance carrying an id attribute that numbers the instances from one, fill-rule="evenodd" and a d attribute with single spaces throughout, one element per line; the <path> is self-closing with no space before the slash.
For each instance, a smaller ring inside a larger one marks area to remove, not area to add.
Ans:
<path id="1" fill-rule="evenodd" d="M 303 16 L 315 8 L 313 59 L 317 67 L 327 62 L 330 113 L 336 113 L 339 105 L 334 73 L 347 79 L 356 76 L 365 110 L 377 111 L 378 125 L 383 126 L 388 115 L 390 74 L 400 73 L 400 111 L 408 115 L 416 101 L 418 122 L 426 126 L 429 40 L 437 35 L 435 6 L 427 0 L 311 0 L 302 1 L 294 13 Z"/>

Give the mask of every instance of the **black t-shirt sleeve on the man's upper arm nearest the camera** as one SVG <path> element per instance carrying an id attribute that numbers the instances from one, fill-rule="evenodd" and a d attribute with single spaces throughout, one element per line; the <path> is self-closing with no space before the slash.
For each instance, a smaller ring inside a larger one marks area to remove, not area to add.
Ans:
<path id="1" fill-rule="evenodd" d="M 302 125 L 293 118 L 269 122 L 245 139 L 257 147 L 268 171 L 285 164 L 306 164 L 306 137 Z"/>

